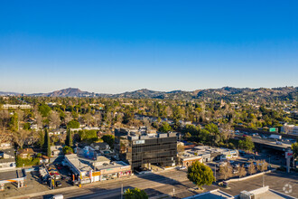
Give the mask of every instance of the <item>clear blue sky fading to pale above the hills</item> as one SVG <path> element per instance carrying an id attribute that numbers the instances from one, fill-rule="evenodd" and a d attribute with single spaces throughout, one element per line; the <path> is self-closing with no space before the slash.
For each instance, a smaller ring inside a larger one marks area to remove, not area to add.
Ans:
<path id="1" fill-rule="evenodd" d="M 298 2 L 1 1 L 0 90 L 298 85 Z"/>

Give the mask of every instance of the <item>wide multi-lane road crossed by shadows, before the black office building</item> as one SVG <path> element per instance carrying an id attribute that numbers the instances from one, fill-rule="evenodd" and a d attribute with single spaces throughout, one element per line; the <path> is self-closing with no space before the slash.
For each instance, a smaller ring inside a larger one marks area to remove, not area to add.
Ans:
<path id="1" fill-rule="evenodd" d="M 194 187 L 187 179 L 185 171 L 170 170 L 160 174 L 137 175 L 121 181 L 83 185 L 81 188 L 56 194 L 63 194 L 64 198 L 112 199 L 120 198 L 121 186 L 123 186 L 123 190 L 134 187 L 143 189 L 150 197 L 157 195 L 172 196 L 173 194 L 178 197 L 186 197 L 193 194 L 189 188 Z M 51 196 L 52 194 L 34 198 L 50 198 Z"/>

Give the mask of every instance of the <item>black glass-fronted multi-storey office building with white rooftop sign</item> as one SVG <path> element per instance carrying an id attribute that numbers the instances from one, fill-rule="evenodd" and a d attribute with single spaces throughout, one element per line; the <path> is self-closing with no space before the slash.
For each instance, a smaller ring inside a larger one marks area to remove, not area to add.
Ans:
<path id="1" fill-rule="evenodd" d="M 117 156 L 133 170 L 151 169 L 152 164 L 163 167 L 177 164 L 176 133 L 116 128 L 114 147 Z"/>

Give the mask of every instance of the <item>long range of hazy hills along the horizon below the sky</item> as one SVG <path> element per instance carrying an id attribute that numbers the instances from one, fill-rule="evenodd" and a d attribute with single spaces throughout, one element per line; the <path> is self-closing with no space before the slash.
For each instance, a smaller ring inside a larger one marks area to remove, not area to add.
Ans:
<path id="1" fill-rule="evenodd" d="M 16 92 L 1 92 L 1 95 L 17 96 L 21 93 Z M 206 90 L 172 90 L 172 91 L 154 91 L 154 90 L 135 90 L 127 91 L 120 94 L 103 94 L 94 93 L 88 91 L 82 91 L 76 88 L 68 88 L 64 90 L 55 90 L 49 93 L 33 93 L 33 94 L 22 94 L 26 96 L 41 96 L 41 97 L 103 97 L 103 98 L 129 98 L 129 99 L 171 99 L 171 100 L 190 100 L 200 98 L 211 98 L 211 99 L 230 99 L 233 100 L 237 97 L 250 98 L 278 98 L 278 99 L 298 99 L 298 87 L 281 87 L 281 88 L 233 88 L 223 87 L 220 89 L 206 89 Z"/>

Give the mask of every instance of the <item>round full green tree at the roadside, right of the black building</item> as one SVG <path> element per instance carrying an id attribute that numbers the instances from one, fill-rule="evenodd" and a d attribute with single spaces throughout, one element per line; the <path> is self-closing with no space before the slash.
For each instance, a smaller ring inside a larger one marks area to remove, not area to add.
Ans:
<path id="1" fill-rule="evenodd" d="M 199 189 L 202 185 L 211 185 L 215 181 L 212 169 L 199 161 L 189 166 L 187 178 L 195 185 L 198 185 Z"/>

